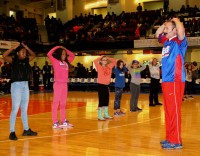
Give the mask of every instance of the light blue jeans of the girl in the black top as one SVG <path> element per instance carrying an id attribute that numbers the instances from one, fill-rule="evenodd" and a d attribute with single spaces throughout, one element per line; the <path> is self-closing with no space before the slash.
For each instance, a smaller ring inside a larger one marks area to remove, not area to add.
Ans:
<path id="1" fill-rule="evenodd" d="M 21 108 L 21 118 L 24 130 L 28 130 L 28 102 L 29 87 L 28 81 L 13 82 L 11 84 L 12 111 L 10 114 L 10 132 L 15 132 L 15 122 L 19 107 Z"/>

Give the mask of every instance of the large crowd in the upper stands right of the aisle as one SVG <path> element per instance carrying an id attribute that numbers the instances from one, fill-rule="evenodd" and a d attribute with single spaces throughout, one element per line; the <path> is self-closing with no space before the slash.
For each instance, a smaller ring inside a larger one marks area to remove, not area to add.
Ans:
<path id="1" fill-rule="evenodd" d="M 90 41 L 116 41 L 139 39 L 140 36 L 148 36 L 153 32 L 156 25 L 160 25 L 171 17 L 180 17 L 186 27 L 188 36 L 199 35 L 200 15 L 199 9 L 187 5 L 180 11 L 169 11 L 163 14 L 163 10 L 122 12 L 117 16 L 114 12 L 102 17 L 102 15 L 82 15 L 75 16 L 65 24 L 58 19 L 47 16 L 45 24 L 48 30 L 50 42 L 74 43 Z M 185 14 L 187 13 L 187 14 Z M 189 17 L 193 17 L 190 19 Z M 195 18 L 196 17 L 196 18 Z"/>

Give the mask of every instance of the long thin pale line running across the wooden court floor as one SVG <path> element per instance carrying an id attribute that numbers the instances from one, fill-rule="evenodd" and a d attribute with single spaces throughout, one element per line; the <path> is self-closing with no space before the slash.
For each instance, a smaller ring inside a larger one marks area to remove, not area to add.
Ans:
<path id="1" fill-rule="evenodd" d="M 150 121 L 157 120 L 157 119 L 160 119 L 160 118 L 161 118 L 161 116 L 153 118 L 153 119 L 149 119 L 149 120 L 146 120 L 146 121 L 141 121 L 141 122 L 135 122 L 135 123 L 125 124 L 125 125 L 120 125 L 120 126 L 109 127 L 109 128 L 93 129 L 93 130 L 88 130 L 88 131 L 80 131 L 80 132 L 68 133 L 68 134 L 48 135 L 48 136 L 41 136 L 41 137 L 33 136 L 33 138 L 18 139 L 17 141 L 35 140 L 35 139 L 44 139 L 44 138 L 51 138 L 51 137 L 58 137 L 58 136 L 69 136 L 69 135 L 76 135 L 76 134 L 98 132 L 98 131 L 101 131 L 101 130 L 109 130 L 109 129 L 114 129 L 114 128 L 121 128 L 121 127 L 126 127 L 126 126 L 141 124 L 141 123 L 146 123 L 146 122 L 150 122 Z M 104 122 L 104 121 L 97 121 L 97 122 Z M 12 142 L 12 140 L 0 141 L 0 143 L 6 143 L 6 142 Z"/>

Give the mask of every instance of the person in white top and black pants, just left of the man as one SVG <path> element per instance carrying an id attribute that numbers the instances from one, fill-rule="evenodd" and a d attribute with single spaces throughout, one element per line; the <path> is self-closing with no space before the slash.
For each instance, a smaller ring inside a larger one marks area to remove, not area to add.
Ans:
<path id="1" fill-rule="evenodd" d="M 158 101 L 158 92 L 160 89 L 160 64 L 156 58 L 149 62 L 149 71 L 151 77 L 149 106 L 162 105 Z"/>

